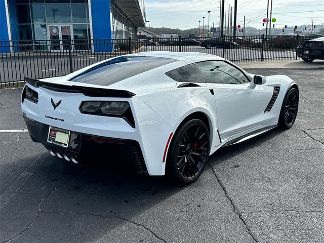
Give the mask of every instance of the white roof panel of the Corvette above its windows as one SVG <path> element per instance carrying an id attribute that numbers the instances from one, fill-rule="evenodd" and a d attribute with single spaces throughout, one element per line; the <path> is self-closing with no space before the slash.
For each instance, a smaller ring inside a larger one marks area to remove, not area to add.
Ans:
<path id="1" fill-rule="evenodd" d="M 225 59 L 216 55 L 200 53 L 200 52 L 168 52 L 168 51 L 153 51 L 153 52 L 140 52 L 129 54 L 131 56 L 149 56 L 149 57 L 165 57 L 173 58 L 179 61 L 185 61 L 187 64 L 204 61 L 208 59 L 224 61 Z"/>

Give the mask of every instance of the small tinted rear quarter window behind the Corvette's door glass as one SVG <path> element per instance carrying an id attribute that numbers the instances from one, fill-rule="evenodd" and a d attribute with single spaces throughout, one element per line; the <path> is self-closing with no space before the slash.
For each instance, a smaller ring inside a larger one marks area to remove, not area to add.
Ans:
<path id="1" fill-rule="evenodd" d="M 195 64 L 179 67 L 172 71 L 166 72 L 166 75 L 176 80 L 177 82 L 206 83 L 206 78 L 204 77 L 204 75 L 201 75 L 201 72 Z"/>

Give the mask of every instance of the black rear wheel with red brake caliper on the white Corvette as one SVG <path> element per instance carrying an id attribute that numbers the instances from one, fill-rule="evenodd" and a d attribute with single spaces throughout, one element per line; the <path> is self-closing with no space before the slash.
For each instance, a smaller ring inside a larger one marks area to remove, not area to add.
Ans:
<path id="1" fill-rule="evenodd" d="M 172 138 L 166 172 L 177 183 L 190 184 L 203 173 L 209 158 L 210 134 L 199 119 L 185 121 Z"/>

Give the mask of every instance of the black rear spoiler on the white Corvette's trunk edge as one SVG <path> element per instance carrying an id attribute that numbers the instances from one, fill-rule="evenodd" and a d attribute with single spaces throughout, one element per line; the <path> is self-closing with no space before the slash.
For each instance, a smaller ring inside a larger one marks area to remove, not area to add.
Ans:
<path id="1" fill-rule="evenodd" d="M 112 90 L 104 88 L 93 88 L 93 87 L 84 87 L 77 85 L 60 85 L 54 83 L 47 83 L 41 80 L 25 77 L 26 83 L 29 85 L 38 88 L 43 87 L 48 90 L 53 90 L 57 92 L 66 92 L 66 93 L 83 93 L 86 96 L 90 97 L 118 97 L 118 98 L 131 98 L 135 96 L 134 93 L 127 90 Z"/>

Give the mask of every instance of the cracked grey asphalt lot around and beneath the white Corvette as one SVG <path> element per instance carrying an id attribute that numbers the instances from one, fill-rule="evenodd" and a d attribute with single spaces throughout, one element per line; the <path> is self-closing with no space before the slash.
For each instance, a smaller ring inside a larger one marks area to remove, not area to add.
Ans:
<path id="1" fill-rule="evenodd" d="M 189 186 L 52 157 L 23 132 L 21 88 L 1 90 L 0 242 L 323 242 L 324 69 L 247 70 L 297 81 L 296 123 L 218 150 Z"/>

